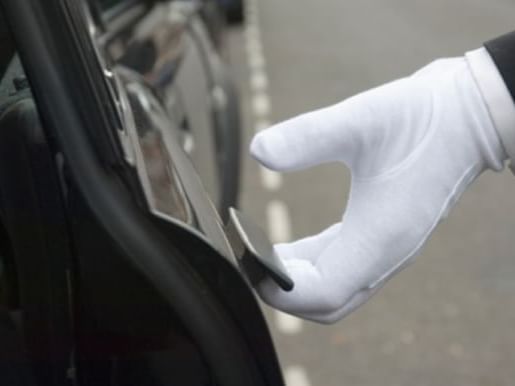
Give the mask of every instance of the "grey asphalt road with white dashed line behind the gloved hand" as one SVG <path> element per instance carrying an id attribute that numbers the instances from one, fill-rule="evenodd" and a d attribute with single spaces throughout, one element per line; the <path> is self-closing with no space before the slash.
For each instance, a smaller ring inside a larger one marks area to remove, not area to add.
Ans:
<path id="1" fill-rule="evenodd" d="M 512 0 L 248 3 L 249 28 L 229 34 L 246 143 L 256 125 L 335 103 L 515 28 Z M 349 182 L 341 165 L 278 178 L 246 158 L 241 206 L 274 239 L 295 239 L 338 221 Z M 483 175 L 417 262 L 336 325 L 267 309 L 290 386 L 515 384 L 514 197 L 508 171 Z"/>

